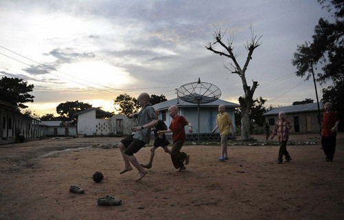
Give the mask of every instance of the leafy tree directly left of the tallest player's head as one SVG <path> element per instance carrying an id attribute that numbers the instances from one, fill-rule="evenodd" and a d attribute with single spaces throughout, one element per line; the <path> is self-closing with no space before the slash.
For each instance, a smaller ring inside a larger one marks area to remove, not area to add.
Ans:
<path id="1" fill-rule="evenodd" d="M 116 105 L 118 105 L 120 108 L 117 109 Z M 129 117 L 133 113 L 136 113 L 138 109 L 140 109 L 138 100 L 127 94 L 120 94 L 120 96 L 117 96 L 116 100 L 114 100 L 114 106 L 117 111 L 124 115 L 127 115 L 127 117 Z"/>

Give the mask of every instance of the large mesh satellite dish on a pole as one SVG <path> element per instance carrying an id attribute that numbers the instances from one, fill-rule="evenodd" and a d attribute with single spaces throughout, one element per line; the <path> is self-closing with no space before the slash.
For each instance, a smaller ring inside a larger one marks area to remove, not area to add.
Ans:
<path id="1" fill-rule="evenodd" d="M 221 96 L 219 87 L 201 82 L 198 78 L 197 82 L 186 83 L 177 89 L 178 103 L 179 98 L 184 102 L 198 105 L 198 142 L 200 142 L 200 104 L 214 102 Z"/>

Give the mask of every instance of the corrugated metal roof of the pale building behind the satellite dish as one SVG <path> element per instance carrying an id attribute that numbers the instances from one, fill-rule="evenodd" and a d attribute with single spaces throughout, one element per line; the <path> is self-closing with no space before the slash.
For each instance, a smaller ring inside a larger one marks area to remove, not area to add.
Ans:
<path id="1" fill-rule="evenodd" d="M 158 104 L 154 104 L 153 108 L 154 109 L 169 109 L 169 107 L 171 107 L 172 105 L 176 105 L 178 107 L 197 107 L 197 104 L 193 104 L 193 103 L 189 103 L 189 102 L 184 102 L 183 100 L 179 99 L 179 104 L 177 104 L 178 99 L 177 98 L 173 98 L 171 100 L 167 100 L 165 102 L 161 102 Z M 201 107 L 218 107 L 220 104 L 224 104 L 225 107 L 228 108 L 239 108 L 240 105 L 239 104 L 235 104 L 233 102 L 227 102 L 225 100 L 216 100 L 214 102 L 210 102 L 210 103 L 206 103 L 206 104 L 201 104 Z"/>

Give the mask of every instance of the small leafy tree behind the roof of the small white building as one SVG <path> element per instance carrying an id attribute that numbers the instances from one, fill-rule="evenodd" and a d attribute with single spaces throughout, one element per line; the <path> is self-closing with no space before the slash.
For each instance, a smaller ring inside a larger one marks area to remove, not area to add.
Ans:
<path id="1" fill-rule="evenodd" d="M 74 102 L 64 102 L 58 104 L 56 107 L 56 112 L 61 116 L 63 121 L 74 121 L 73 115 L 79 111 L 84 111 L 91 109 L 92 104 L 79 102 L 78 100 Z"/>

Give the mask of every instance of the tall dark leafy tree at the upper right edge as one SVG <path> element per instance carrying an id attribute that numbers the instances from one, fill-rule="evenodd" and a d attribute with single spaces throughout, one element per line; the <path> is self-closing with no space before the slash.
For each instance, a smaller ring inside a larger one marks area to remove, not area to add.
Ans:
<path id="1" fill-rule="evenodd" d="M 292 64 L 297 66 L 297 76 L 314 76 L 320 83 L 330 81 L 332 85 L 323 89 L 323 102 L 334 102 L 334 108 L 339 115 L 343 115 L 344 85 L 344 1 L 343 0 L 318 0 L 318 2 L 329 12 L 333 12 L 334 21 L 319 19 L 314 28 L 312 42 L 305 42 L 297 46 Z M 343 116 L 342 116 L 343 117 Z"/>

